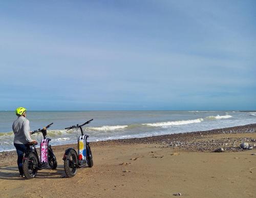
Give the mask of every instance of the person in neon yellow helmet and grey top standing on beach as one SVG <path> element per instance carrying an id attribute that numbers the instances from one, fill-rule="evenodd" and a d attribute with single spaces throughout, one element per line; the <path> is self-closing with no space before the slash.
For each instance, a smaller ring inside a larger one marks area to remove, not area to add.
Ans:
<path id="1" fill-rule="evenodd" d="M 29 127 L 29 120 L 26 118 L 27 109 L 24 107 L 18 107 L 16 109 L 16 116 L 18 118 L 12 124 L 12 130 L 14 133 L 14 146 L 17 151 L 18 159 L 18 170 L 19 170 L 19 177 L 24 177 L 23 172 L 23 156 L 26 150 L 25 144 L 29 142 L 33 142 L 30 137 L 30 127 Z"/>

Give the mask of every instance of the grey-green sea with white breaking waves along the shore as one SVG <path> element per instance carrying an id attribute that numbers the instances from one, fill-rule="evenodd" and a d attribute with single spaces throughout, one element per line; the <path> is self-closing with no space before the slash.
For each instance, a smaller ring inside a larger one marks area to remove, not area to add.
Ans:
<path id="1" fill-rule="evenodd" d="M 15 150 L 12 123 L 14 112 L 0 112 L 0 151 Z M 256 123 L 256 111 L 29 111 L 31 130 L 53 122 L 47 137 L 51 145 L 76 143 L 78 130 L 65 130 L 87 120 L 83 126 L 89 141 L 137 138 L 165 134 L 186 133 Z M 40 141 L 40 135 L 32 135 Z"/>

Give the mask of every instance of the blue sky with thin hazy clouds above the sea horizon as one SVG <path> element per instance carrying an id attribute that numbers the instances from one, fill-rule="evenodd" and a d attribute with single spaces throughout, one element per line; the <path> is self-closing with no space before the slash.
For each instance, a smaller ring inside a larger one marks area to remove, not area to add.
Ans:
<path id="1" fill-rule="evenodd" d="M 0 110 L 256 109 L 256 1 L 1 1 Z"/>

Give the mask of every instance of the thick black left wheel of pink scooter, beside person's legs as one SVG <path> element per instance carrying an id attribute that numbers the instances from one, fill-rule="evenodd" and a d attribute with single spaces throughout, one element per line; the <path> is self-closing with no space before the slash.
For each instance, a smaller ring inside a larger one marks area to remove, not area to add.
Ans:
<path id="1" fill-rule="evenodd" d="M 23 160 L 23 172 L 27 180 L 32 179 L 37 174 L 38 160 L 33 152 L 25 156 Z"/>

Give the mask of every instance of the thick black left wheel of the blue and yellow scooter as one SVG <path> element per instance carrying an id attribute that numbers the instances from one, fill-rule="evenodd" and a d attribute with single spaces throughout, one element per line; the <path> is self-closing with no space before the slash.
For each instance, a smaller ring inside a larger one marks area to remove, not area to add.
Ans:
<path id="1" fill-rule="evenodd" d="M 72 178 L 75 176 L 77 171 L 77 154 L 74 150 L 70 150 L 67 158 L 64 160 L 64 169 L 66 172 L 67 178 Z"/>

